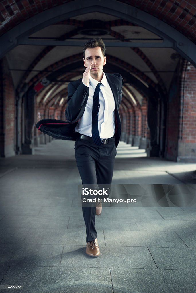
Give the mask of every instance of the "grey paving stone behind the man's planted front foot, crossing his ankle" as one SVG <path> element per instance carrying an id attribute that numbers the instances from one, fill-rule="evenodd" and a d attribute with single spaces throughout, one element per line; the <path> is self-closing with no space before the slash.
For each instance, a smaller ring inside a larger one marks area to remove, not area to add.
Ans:
<path id="1" fill-rule="evenodd" d="M 105 245 L 103 230 L 97 230 L 100 245 Z M 34 229 L 31 228 L 24 243 L 65 244 L 86 246 L 86 229 Z"/>

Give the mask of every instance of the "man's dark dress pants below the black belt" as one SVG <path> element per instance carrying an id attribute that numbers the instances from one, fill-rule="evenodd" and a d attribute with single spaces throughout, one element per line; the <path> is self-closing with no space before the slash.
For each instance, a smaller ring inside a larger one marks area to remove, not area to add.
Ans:
<path id="1" fill-rule="evenodd" d="M 116 156 L 115 142 L 102 144 L 99 147 L 94 142 L 77 138 L 74 149 L 83 185 L 111 184 Z M 86 242 L 89 242 L 97 238 L 94 226 L 96 206 L 82 207 L 82 213 L 86 225 Z"/>

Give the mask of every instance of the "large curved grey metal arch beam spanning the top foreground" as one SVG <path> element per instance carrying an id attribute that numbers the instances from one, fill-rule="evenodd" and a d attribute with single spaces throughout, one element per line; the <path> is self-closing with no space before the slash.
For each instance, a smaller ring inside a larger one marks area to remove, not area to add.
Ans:
<path id="1" fill-rule="evenodd" d="M 85 13 L 93 13 L 95 11 L 131 21 L 155 33 L 162 38 L 164 42 L 166 40 L 171 42 L 172 48 L 196 67 L 196 45 L 185 35 L 164 21 L 136 7 L 113 0 L 91 0 L 90 2 L 89 0 L 75 0 L 36 14 L 16 25 L 0 37 L 0 58 L 18 45 L 18 39 L 20 42 L 21 38 L 26 38 L 48 25 L 53 25 L 64 19 Z"/>

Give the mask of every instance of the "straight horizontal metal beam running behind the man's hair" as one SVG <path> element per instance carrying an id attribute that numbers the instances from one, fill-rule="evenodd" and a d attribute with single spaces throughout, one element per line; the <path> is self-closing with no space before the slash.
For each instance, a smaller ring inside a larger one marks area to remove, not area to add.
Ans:
<path id="1" fill-rule="evenodd" d="M 106 47 L 121 47 L 121 48 L 172 48 L 173 42 L 165 40 L 163 42 L 108 42 L 104 41 Z M 82 47 L 84 41 L 58 41 L 58 40 L 40 40 L 40 39 L 28 39 L 18 38 L 17 45 L 32 45 L 32 46 L 70 46 L 70 47 Z"/>

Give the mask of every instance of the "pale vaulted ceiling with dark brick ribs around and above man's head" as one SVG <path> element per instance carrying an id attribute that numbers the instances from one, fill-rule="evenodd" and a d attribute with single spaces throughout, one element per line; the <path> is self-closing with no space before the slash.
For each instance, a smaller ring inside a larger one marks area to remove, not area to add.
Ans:
<path id="1" fill-rule="evenodd" d="M 30 37 L 62 38 L 62 36 L 64 37 L 65 34 L 66 37 L 70 34 L 70 41 L 75 38 L 88 40 L 89 38 L 91 38 L 91 36 L 81 35 L 80 28 L 75 28 L 75 26 L 70 25 L 70 23 L 77 23 L 78 21 L 80 21 L 81 24 L 87 20 L 92 21 L 90 17 L 92 17 L 92 13 L 77 16 L 76 18 L 67 19 L 65 20 L 64 24 L 50 25 L 49 27 L 33 33 Z M 111 27 L 108 27 L 109 33 L 107 33 L 106 35 L 101 35 L 103 40 L 107 40 L 108 38 L 110 38 L 115 42 L 116 40 L 119 40 L 119 35 L 122 40 L 126 38 L 148 38 L 153 40 L 160 39 L 158 36 L 142 27 L 131 25 L 131 23 L 126 22 L 121 23 L 121 20 L 117 19 L 116 17 L 112 17 L 104 13 L 95 13 L 95 17 L 97 19 L 101 19 L 104 23 L 107 24 L 107 26 L 108 24 L 111 25 Z M 114 33 L 116 31 L 118 31 L 117 35 L 115 35 Z M 81 51 L 81 47 L 72 46 L 44 47 L 20 45 L 15 47 L 13 50 L 9 51 L 6 54 L 11 69 L 14 86 L 20 89 L 24 83 L 29 83 L 34 77 L 37 77 L 39 72 L 42 73 L 42 77 L 43 72 L 45 72 L 45 75 L 47 76 L 50 72 L 54 70 L 50 69 L 50 65 L 54 65 L 60 62 L 60 60 L 64 60 L 62 62 L 66 62 L 65 59 L 72 59 L 72 57 L 76 54 L 78 54 L 81 58 L 81 68 L 80 75 L 78 76 L 77 72 L 75 73 L 75 75 L 77 75 L 78 78 L 81 77 L 83 68 L 83 56 Z M 171 48 L 108 47 L 106 48 L 107 64 L 104 67 L 104 71 L 110 71 L 110 63 L 116 64 L 120 68 L 126 68 L 126 71 L 128 71 L 133 76 L 137 76 L 137 78 L 143 81 L 144 84 L 146 78 L 143 79 L 143 76 L 145 75 L 149 77 L 149 79 L 155 84 L 161 84 L 163 90 L 165 89 L 166 93 L 169 89 L 173 72 L 175 71 L 175 67 L 178 63 L 179 57 L 179 54 L 177 54 L 176 51 Z M 141 76 L 136 74 L 136 71 L 140 72 Z M 66 79 L 64 80 L 66 82 Z M 130 89 L 130 91 L 132 88 L 135 96 L 141 103 L 142 96 L 137 91 L 137 89 L 134 89 L 133 85 L 130 85 L 129 83 L 126 83 L 126 85 L 128 89 Z M 63 86 L 61 85 L 61 87 Z M 67 83 L 64 84 L 64 87 L 67 87 Z M 54 93 L 55 91 L 53 92 L 53 94 Z M 40 95 L 42 95 L 42 93 L 40 93 Z"/>

